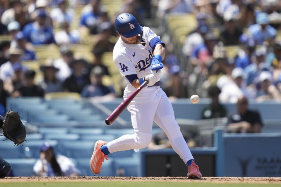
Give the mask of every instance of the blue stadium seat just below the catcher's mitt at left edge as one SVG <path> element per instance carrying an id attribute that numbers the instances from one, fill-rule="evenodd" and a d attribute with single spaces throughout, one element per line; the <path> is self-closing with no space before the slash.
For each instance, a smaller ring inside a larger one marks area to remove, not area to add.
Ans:
<path id="1" fill-rule="evenodd" d="M 24 142 L 25 143 L 25 142 Z M 23 158 L 23 146 L 15 144 L 7 139 L 0 143 L 0 157 L 5 158 Z"/>

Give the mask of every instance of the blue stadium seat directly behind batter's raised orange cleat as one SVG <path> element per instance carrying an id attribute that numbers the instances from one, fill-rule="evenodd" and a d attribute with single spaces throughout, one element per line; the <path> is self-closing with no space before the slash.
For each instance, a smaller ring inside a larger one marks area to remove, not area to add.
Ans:
<path id="1" fill-rule="evenodd" d="M 91 171 L 90 168 L 90 159 L 79 159 L 77 163 L 77 168 L 80 169 L 81 175 L 85 176 L 114 176 L 114 162 L 113 159 L 111 160 L 104 160 L 102 163 L 102 169 L 100 174 L 96 175 Z"/>

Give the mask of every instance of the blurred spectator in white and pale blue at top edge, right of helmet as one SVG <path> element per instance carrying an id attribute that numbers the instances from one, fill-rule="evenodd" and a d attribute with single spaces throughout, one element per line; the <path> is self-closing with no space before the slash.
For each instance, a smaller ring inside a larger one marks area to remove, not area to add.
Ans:
<path id="1" fill-rule="evenodd" d="M 189 0 L 160 0 L 158 2 L 158 16 L 163 18 L 167 13 L 191 13 L 192 2 Z"/>

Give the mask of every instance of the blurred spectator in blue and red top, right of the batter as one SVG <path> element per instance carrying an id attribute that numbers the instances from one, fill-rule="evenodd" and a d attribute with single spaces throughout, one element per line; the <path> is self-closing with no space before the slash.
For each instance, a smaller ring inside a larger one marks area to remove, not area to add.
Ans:
<path id="1" fill-rule="evenodd" d="M 190 60 L 193 65 L 203 65 L 213 60 L 213 48 L 217 42 L 217 38 L 213 33 L 207 33 L 204 37 L 204 44 L 199 44 L 192 51 Z"/>

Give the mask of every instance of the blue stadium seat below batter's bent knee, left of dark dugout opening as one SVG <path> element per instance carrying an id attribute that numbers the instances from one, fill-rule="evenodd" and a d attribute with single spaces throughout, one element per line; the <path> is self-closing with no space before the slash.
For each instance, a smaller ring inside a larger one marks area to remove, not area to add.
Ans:
<path id="1" fill-rule="evenodd" d="M 117 172 L 118 169 L 123 169 L 123 176 L 140 176 L 140 160 L 136 157 L 115 158 L 114 166 L 115 172 Z M 117 176 L 117 173 L 115 175 Z"/>

